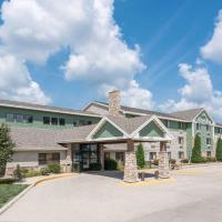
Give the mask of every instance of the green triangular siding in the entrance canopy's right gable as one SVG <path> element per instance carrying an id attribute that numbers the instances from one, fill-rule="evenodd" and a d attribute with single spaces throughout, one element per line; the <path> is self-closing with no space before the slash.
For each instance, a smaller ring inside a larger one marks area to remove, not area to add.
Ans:
<path id="1" fill-rule="evenodd" d="M 163 138 L 164 133 L 152 121 L 139 132 L 139 135 L 140 137 L 159 137 L 159 138 Z"/>

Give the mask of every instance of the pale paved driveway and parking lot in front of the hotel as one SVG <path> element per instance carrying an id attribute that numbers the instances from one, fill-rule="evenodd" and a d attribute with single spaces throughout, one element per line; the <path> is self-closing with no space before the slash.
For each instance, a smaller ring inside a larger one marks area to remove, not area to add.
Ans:
<path id="1" fill-rule="evenodd" d="M 221 222 L 222 165 L 174 171 L 173 180 L 121 182 L 117 173 L 57 179 L 31 189 L 1 222 Z"/>

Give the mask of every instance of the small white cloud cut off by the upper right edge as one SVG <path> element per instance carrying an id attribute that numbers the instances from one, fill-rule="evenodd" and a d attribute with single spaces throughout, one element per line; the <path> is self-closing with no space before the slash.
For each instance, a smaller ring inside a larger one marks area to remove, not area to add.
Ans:
<path id="1" fill-rule="evenodd" d="M 222 63 L 222 10 L 219 11 L 213 36 L 210 41 L 201 48 L 201 53 L 204 59 Z"/>

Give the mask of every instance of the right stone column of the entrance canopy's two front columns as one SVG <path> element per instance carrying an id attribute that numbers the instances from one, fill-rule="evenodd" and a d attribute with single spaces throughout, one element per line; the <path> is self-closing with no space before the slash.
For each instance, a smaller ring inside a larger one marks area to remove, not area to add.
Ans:
<path id="1" fill-rule="evenodd" d="M 159 153 L 159 178 L 170 178 L 169 160 L 165 142 L 160 142 Z"/>

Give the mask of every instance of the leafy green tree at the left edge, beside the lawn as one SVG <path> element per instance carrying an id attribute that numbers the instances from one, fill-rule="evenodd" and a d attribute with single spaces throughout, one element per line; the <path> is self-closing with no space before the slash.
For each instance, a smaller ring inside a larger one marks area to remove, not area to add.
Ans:
<path id="1" fill-rule="evenodd" d="M 0 175 L 4 175 L 7 162 L 11 161 L 14 147 L 9 127 L 2 123 L 0 125 Z"/>

